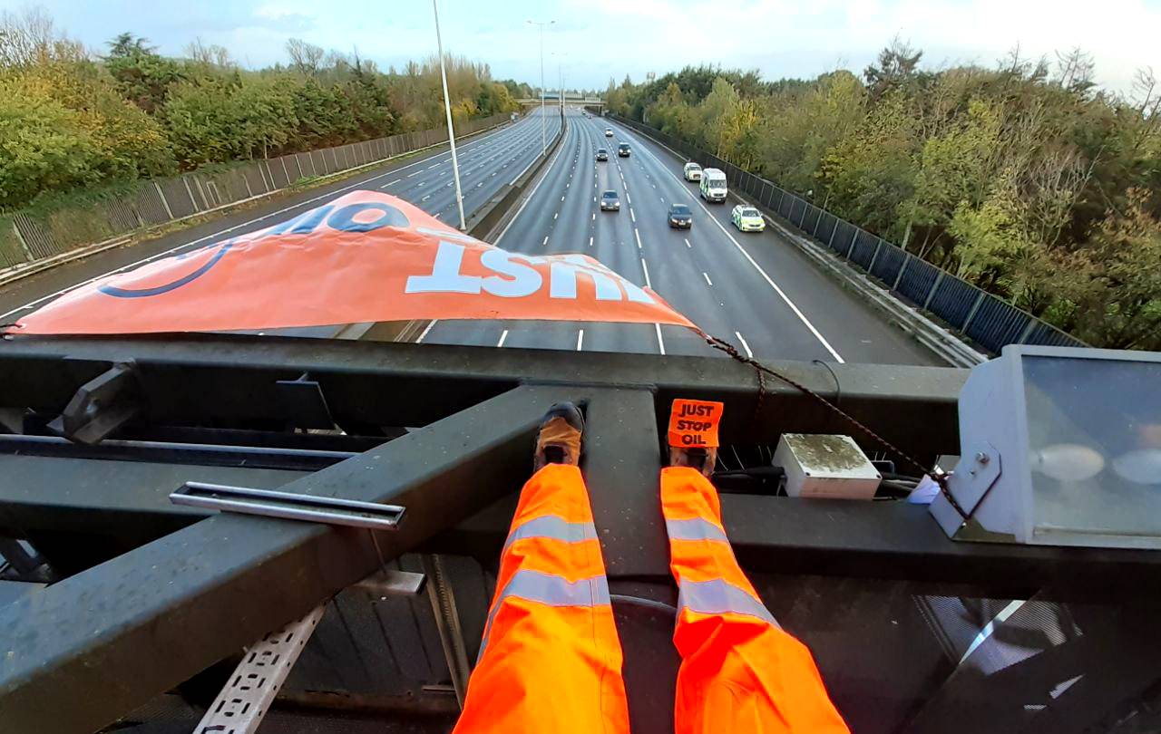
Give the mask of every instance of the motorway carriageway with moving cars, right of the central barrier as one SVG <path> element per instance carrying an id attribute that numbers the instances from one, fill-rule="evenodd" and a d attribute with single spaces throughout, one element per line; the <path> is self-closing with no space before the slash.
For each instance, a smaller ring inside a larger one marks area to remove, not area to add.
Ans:
<path id="1" fill-rule="evenodd" d="M 495 242 L 528 254 L 586 253 L 648 285 L 706 333 L 743 353 L 784 359 L 944 364 L 820 272 L 767 228 L 741 233 L 733 203 L 706 204 L 684 181 L 684 160 L 606 119 L 569 110 L 569 131 L 548 173 Z M 605 128 L 613 137 L 605 137 Z M 632 154 L 615 154 L 628 143 Z M 598 147 L 610 151 L 596 160 Z M 614 189 L 619 212 L 601 212 Z M 685 203 L 691 230 L 671 230 L 668 211 Z M 542 349 L 722 355 L 677 326 L 571 321 L 440 321 L 425 342 Z"/>

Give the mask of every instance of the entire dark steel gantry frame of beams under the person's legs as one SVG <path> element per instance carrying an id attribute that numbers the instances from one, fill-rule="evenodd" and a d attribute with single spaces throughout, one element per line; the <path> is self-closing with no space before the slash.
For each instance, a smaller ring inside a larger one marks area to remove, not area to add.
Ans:
<path id="1" fill-rule="evenodd" d="M 773 362 L 913 456 L 958 451 L 967 372 Z M 657 501 L 675 398 L 726 402 L 726 444 L 784 431 L 877 446 L 729 359 L 251 335 L 0 342 L 0 537 L 62 580 L 0 608 L 13 731 L 93 731 L 418 548 L 495 559 L 535 427 L 585 407 L 583 464 L 611 579 L 664 582 Z M 344 430 L 319 431 L 339 427 Z M 196 479 L 399 504 L 377 532 L 176 507 Z M 744 567 L 975 584 L 1012 598 L 1156 598 L 1142 551 L 949 540 L 906 502 L 723 494 Z M 377 546 L 376 548 L 376 542 Z M 488 561 L 491 562 L 491 561 Z M 1146 589 L 1146 591 L 1142 591 Z M 1153 589 L 1153 590 L 1148 590 Z"/>

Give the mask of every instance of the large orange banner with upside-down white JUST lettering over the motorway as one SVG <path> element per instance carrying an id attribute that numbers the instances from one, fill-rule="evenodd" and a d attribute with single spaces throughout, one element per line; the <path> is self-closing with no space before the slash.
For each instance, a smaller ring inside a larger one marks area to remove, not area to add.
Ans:
<path id="1" fill-rule="evenodd" d="M 9 332 L 216 332 L 412 319 L 697 328 L 652 290 L 592 257 L 511 253 L 394 196 L 354 191 L 273 227 L 81 285 Z"/>

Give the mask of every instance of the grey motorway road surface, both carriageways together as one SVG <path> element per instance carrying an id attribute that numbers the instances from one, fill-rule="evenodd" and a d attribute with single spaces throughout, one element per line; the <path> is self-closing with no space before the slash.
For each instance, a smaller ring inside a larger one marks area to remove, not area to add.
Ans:
<path id="1" fill-rule="evenodd" d="M 540 112 L 461 143 L 467 216 L 524 172 L 541 152 Z M 839 288 L 767 228 L 740 233 L 731 204 L 705 204 L 682 179 L 683 160 L 636 132 L 569 109 L 568 136 L 517 217 L 495 242 L 528 254 L 580 252 L 649 285 L 702 329 L 757 357 L 896 364 L 943 364 L 858 298 Z M 546 115 L 548 135 L 560 124 Z M 604 129 L 614 130 L 606 138 Z M 615 155 L 629 143 L 629 158 Z M 611 152 L 597 162 L 598 147 Z M 118 248 L 19 281 L 0 291 L 0 321 L 88 279 L 179 254 L 226 237 L 267 227 L 354 189 L 380 189 L 457 224 L 450 154 L 446 151 L 372 167 L 352 179 L 283 197 L 221 219 Z M 600 212 L 605 189 L 621 196 L 620 212 Z M 673 202 L 693 210 L 690 231 L 670 230 Z M 440 321 L 425 342 L 721 355 L 682 327 L 555 321 Z"/>

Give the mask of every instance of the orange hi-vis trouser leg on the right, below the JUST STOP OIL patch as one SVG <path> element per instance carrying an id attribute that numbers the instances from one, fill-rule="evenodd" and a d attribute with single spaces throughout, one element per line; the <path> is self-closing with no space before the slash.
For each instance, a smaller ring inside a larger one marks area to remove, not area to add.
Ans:
<path id="1" fill-rule="evenodd" d="M 661 503 L 678 586 L 677 734 L 848 732 L 810 652 L 778 626 L 738 567 L 709 480 L 664 468 Z"/>

